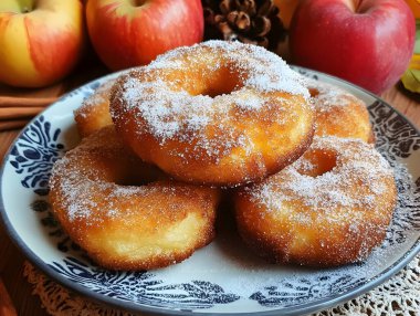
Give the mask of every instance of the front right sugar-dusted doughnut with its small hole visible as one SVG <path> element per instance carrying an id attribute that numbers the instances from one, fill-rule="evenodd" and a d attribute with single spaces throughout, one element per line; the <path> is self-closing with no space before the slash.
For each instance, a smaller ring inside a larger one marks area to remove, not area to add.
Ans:
<path id="1" fill-rule="evenodd" d="M 371 145 L 315 137 L 293 165 L 237 193 L 237 223 L 269 261 L 342 265 L 384 241 L 396 196 L 392 170 Z"/>

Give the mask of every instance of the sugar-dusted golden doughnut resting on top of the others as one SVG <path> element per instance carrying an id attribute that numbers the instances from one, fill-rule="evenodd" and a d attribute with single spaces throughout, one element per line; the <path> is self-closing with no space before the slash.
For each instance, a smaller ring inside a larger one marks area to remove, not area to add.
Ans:
<path id="1" fill-rule="evenodd" d="M 300 157 L 314 114 L 300 74 L 238 42 L 180 48 L 123 75 L 111 114 L 143 160 L 193 183 L 261 180 Z"/>

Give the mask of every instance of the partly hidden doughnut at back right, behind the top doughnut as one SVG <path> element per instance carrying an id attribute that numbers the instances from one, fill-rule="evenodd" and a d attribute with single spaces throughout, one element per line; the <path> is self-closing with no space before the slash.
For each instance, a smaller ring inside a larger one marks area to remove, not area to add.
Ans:
<path id="1" fill-rule="evenodd" d="M 353 94 L 327 83 L 308 80 L 315 105 L 315 135 L 358 138 L 374 143 L 366 104 Z"/>

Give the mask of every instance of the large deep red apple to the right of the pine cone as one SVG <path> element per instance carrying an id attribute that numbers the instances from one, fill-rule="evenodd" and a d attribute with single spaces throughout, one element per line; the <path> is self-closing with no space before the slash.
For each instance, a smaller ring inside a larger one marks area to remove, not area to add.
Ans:
<path id="1" fill-rule="evenodd" d="M 303 0 L 290 30 L 294 63 L 374 93 L 406 71 L 416 22 L 403 0 Z"/>

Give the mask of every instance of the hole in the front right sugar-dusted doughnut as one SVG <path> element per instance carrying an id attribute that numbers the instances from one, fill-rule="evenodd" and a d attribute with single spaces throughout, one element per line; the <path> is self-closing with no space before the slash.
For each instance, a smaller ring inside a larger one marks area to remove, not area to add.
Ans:
<path id="1" fill-rule="evenodd" d="M 319 177 L 337 166 L 337 155 L 332 150 L 314 149 L 303 157 L 305 164 L 298 166 L 301 175 L 313 178 Z"/>

